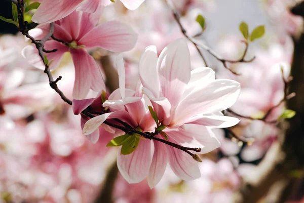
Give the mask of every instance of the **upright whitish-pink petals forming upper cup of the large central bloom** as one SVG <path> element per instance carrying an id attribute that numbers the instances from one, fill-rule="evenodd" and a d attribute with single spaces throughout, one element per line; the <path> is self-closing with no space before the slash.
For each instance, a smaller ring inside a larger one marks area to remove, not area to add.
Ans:
<path id="1" fill-rule="evenodd" d="M 143 91 L 162 124 L 169 128 L 186 123 L 225 128 L 238 123 L 220 111 L 236 102 L 240 84 L 215 79 L 214 71 L 207 67 L 191 71 L 184 39 L 168 45 L 159 58 L 154 46 L 147 47 L 139 63 L 139 74 Z"/>

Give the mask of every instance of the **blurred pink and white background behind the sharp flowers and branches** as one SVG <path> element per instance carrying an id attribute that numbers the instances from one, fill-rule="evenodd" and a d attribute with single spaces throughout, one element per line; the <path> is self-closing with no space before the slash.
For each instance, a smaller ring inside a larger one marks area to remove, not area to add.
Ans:
<path id="1" fill-rule="evenodd" d="M 145 180 L 127 183 L 116 166 L 117 149 L 105 147 L 107 137 L 101 136 L 92 144 L 82 135 L 80 116 L 73 115 L 71 107 L 49 87 L 43 71 L 22 57 L 21 51 L 29 42 L 14 25 L 0 21 L 1 203 L 304 202 L 301 1 L 172 2 L 187 33 L 224 59 L 238 60 L 244 53 L 239 31 L 242 21 L 250 31 L 258 25 L 265 25 L 266 30 L 261 39 L 249 45 L 245 58 L 255 57 L 252 62 L 227 64 L 240 75 L 226 70 L 202 50 L 204 62 L 188 43 L 193 69 L 207 65 L 216 71 L 217 78 L 235 79 L 242 87 L 231 110 L 243 116 L 226 112 L 241 122 L 230 129 L 214 129 L 221 146 L 201 156 L 201 178 L 182 181 L 168 166 L 154 189 Z M 12 17 L 11 4 L 0 0 L 1 16 Z M 206 19 L 205 30 L 196 22 L 198 14 Z M 138 61 L 146 46 L 156 45 L 160 53 L 174 39 L 184 37 L 162 0 L 146 0 L 135 11 L 116 1 L 103 10 L 100 22 L 112 19 L 130 24 L 139 34 L 134 49 L 124 53 L 130 89 L 136 88 Z M 90 50 L 90 54 L 108 79 L 109 91 L 117 89 L 116 55 L 101 49 Z M 296 97 L 280 103 L 290 72 L 293 80 L 287 85 Z M 62 75 L 58 86 L 71 98 L 74 69 L 68 54 L 53 75 Z M 295 110 L 296 115 L 280 119 L 286 108 Z M 267 119 L 259 119 L 268 113 Z"/>

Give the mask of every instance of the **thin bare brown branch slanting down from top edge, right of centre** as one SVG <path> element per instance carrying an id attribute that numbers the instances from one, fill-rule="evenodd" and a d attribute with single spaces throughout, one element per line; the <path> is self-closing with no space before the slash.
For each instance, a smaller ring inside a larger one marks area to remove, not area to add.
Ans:
<path id="1" fill-rule="evenodd" d="M 250 60 L 245 60 L 245 56 L 246 56 L 246 53 L 247 53 L 247 50 L 248 50 L 248 42 L 246 41 L 242 41 L 243 43 L 245 43 L 246 47 L 245 47 L 245 51 L 243 53 L 243 56 L 239 59 L 239 60 L 227 60 L 227 59 L 223 59 L 221 56 L 219 56 L 214 50 L 212 50 L 210 47 L 208 47 L 207 45 L 205 44 L 202 44 L 200 42 L 198 42 L 198 40 L 196 40 L 195 38 L 193 38 L 192 36 L 189 36 L 187 34 L 187 31 L 185 30 L 185 28 L 182 26 L 181 22 L 180 22 L 180 16 L 178 14 L 178 12 L 175 10 L 175 7 L 174 7 L 174 4 L 172 3 L 171 0 L 166 0 L 166 3 L 168 5 L 168 7 L 170 8 L 170 10 L 172 11 L 173 13 L 173 16 L 174 16 L 174 19 L 176 21 L 176 23 L 178 24 L 182 34 L 190 41 L 192 42 L 192 44 L 196 47 L 197 51 L 199 52 L 200 56 L 202 57 L 202 59 L 204 60 L 205 64 L 206 64 L 206 60 L 203 56 L 203 53 L 201 52 L 200 49 L 204 49 L 206 50 L 209 54 L 211 54 L 214 58 L 216 58 L 218 61 L 220 61 L 224 68 L 226 68 L 227 70 L 229 70 L 230 72 L 232 72 L 233 74 L 235 75 L 240 75 L 239 73 L 237 72 L 234 72 L 233 70 L 231 70 L 226 63 L 249 63 L 249 62 L 252 62 L 255 57 L 253 57 L 252 59 Z M 207 65 L 207 64 L 206 64 Z M 207 65 L 208 66 L 208 65 Z"/>

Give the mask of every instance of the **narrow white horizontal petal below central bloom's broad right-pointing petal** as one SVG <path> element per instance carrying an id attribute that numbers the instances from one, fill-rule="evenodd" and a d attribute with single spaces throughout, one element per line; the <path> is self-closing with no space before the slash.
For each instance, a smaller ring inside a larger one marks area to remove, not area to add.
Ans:
<path id="1" fill-rule="evenodd" d="M 190 118 L 188 124 L 209 126 L 211 128 L 229 128 L 237 125 L 240 119 L 223 115 L 199 115 Z"/>

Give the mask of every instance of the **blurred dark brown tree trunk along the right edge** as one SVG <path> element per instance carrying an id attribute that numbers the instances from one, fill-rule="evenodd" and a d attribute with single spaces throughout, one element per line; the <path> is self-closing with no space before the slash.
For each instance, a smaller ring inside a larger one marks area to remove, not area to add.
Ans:
<path id="1" fill-rule="evenodd" d="M 290 82 L 290 91 L 301 95 L 304 92 L 304 35 L 299 41 L 294 41 L 294 55 L 291 65 L 291 75 L 294 79 Z M 283 199 L 288 199 L 292 190 L 288 189 L 296 181 L 292 173 L 304 168 L 304 98 L 295 97 L 287 100 L 288 109 L 296 111 L 296 115 L 285 123 L 280 124 L 281 134 L 279 142 L 276 142 L 267 152 L 262 162 L 255 170 L 257 175 L 254 180 L 247 181 L 240 190 L 240 200 L 243 203 L 259 202 L 268 195 L 271 186 L 279 181 L 284 181 L 285 189 Z M 287 130 L 286 130 L 287 129 Z M 278 194 L 281 196 L 280 194 Z"/>

